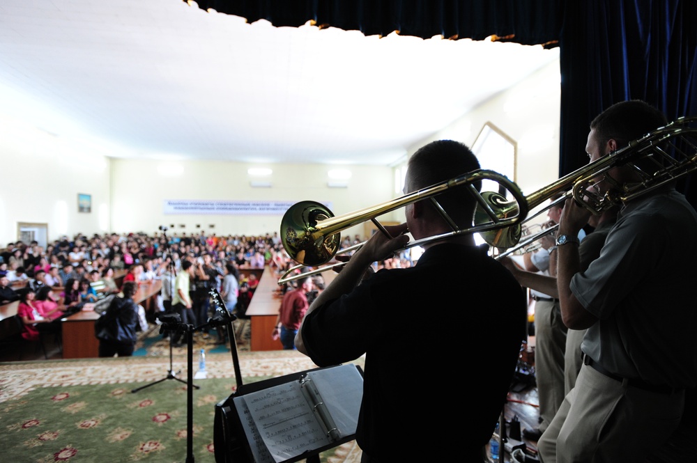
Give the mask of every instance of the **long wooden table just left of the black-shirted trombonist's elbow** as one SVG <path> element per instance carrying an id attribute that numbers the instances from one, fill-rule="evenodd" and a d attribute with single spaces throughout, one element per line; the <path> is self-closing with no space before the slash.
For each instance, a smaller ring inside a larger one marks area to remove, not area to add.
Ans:
<path id="1" fill-rule="evenodd" d="M 325 285 L 328 285 L 335 276 L 332 271 L 322 274 Z M 276 326 L 276 317 L 281 308 L 283 295 L 278 285 L 279 275 L 266 266 L 264 268 L 259 286 L 256 287 L 247 315 L 250 316 L 250 350 L 282 350 L 280 340 L 271 339 L 271 332 Z"/>

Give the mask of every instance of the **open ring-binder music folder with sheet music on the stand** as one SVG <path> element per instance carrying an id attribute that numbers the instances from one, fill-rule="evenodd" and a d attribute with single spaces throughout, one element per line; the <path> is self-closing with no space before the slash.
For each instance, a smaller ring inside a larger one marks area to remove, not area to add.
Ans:
<path id="1" fill-rule="evenodd" d="M 218 405 L 217 412 L 227 406 L 221 416 L 227 423 L 219 427 L 228 435 L 217 439 L 224 443 L 215 442 L 217 462 L 289 463 L 355 439 L 363 394 L 360 367 L 347 363 L 268 381 L 247 385 L 256 387 Z"/>

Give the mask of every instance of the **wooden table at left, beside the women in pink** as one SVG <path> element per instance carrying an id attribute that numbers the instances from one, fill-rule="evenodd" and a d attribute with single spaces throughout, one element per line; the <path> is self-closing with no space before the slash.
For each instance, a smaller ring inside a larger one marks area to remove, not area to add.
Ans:
<path id="1" fill-rule="evenodd" d="M 162 289 L 162 281 L 139 285 L 133 297 L 146 311 L 151 310 Z M 118 296 L 117 296 L 118 297 Z M 99 356 L 99 340 L 94 336 L 94 322 L 100 317 L 94 311 L 82 311 L 61 320 L 63 327 L 63 359 L 84 359 Z"/>

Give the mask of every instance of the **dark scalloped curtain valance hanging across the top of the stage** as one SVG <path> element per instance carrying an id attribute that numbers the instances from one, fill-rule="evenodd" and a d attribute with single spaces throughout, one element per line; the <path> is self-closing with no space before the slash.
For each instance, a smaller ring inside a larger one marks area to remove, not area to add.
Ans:
<path id="1" fill-rule="evenodd" d="M 320 27 L 362 31 L 367 36 L 471 38 L 496 35 L 523 45 L 558 40 L 562 0 L 200 0 L 199 7 L 266 19 L 275 26 Z"/>

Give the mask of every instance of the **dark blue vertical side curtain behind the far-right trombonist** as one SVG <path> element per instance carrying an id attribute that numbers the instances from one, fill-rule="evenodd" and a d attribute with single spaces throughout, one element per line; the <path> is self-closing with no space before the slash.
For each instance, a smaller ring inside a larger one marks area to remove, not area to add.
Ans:
<path id="1" fill-rule="evenodd" d="M 559 173 L 588 163 L 588 125 L 623 100 L 644 100 L 674 120 L 697 115 L 697 2 L 565 3 L 560 34 Z"/>

